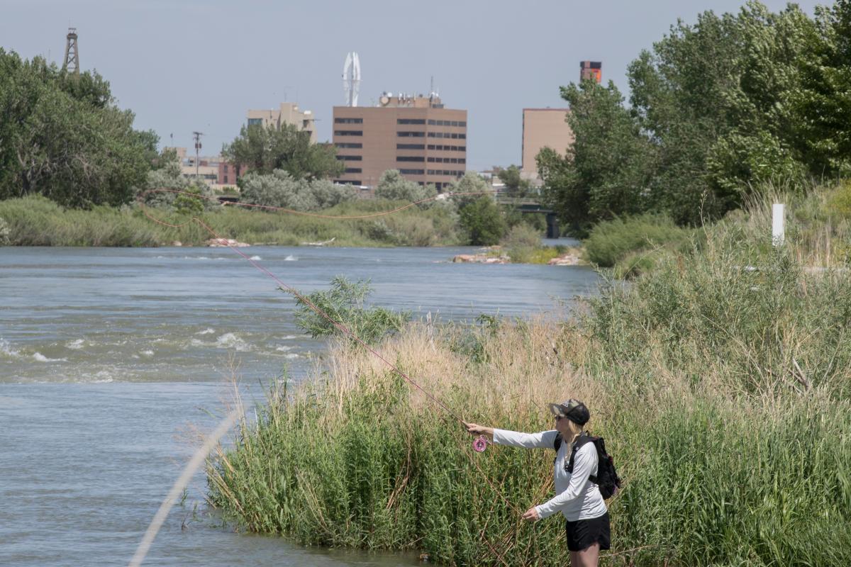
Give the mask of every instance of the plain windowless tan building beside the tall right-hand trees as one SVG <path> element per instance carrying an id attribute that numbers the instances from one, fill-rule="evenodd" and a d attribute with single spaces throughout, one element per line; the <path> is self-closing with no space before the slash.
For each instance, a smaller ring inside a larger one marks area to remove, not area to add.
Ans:
<path id="1" fill-rule="evenodd" d="M 564 154 L 574 144 L 574 132 L 565 118 L 566 108 L 523 109 L 523 162 L 520 172 L 525 179 L 539 179 L 535 156 L 544 147 Z"/>

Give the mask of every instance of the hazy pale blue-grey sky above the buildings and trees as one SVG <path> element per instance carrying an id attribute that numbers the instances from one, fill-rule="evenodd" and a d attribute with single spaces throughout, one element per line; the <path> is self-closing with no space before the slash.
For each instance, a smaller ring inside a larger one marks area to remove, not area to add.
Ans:
<path id="1" fill-rule="evenodd" d="M 626 94 L 626 66 L 677 18 L 741 4 L 0 0 L 0 47 L 61 65 L 76 26 L 82 69 L 106 77 L 136 128 L 183 146 L 200 130 L 208 155 L 237 135 L 246 110 L 285 100 L 313 111 L 319 139 L 330 139 L 346 53 L 357 51 L 360 105 L 382 91 L 426 93 L 433 76 L 443 103 L 467 110 L 467 168 L 482 170 L 520 163 L 523 108 L 563 106 L 558 88 L 578 79 L 580 60 L 603 61 L 603 80 Z M 798 4 L 812 14 L 816 2 Z"/>

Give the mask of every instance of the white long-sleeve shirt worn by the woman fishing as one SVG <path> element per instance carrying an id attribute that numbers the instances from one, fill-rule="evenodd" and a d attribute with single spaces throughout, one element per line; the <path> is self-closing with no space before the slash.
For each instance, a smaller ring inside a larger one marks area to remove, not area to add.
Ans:
<path id="1" fill-rule="evenodd" d="M 557 434 L 555 429 L 536 434 L 494 429 L 494 443 L 526 449 L 552 449 Z M 567 442 L 558 448 L 553 471 L 556 496 L 535 507 L 541 518 L 561 512 L 566 519 L 576 521 L 599 518 L 608 510 L 600 489 L 588 479 L 591 474 L 597 474 L 597 448 L 593 443 L 582 445 L 574 457 L 574 472 L 568 473 L 564 465 L 570 460 L 572 449 L 573 446 Z"/>

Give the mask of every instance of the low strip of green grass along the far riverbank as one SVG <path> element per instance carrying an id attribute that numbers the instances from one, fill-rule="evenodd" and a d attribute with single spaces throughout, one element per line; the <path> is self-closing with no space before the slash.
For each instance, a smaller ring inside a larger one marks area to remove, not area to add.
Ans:
<path id="1" fill-rule="evenodd" d="M 332 207 L 329 216 L 360 215 L 391 210 L 393 201 L 354 201 Z M 0 218 L 9 225 L 9 242 L 17 246 L 168 246 L 174 241 L 201 246 L 209 232 L 191 221 L 191 215 L 150 208 L 146 218 L 139 207 L 65 209 L 40 196 L 0 201 Z M 460 244 L 452 213 L 443 207 L 411 207 L 377 218 L 341 220 L 288 213 L 216 207 L 200 215 L 222 237 L 249 244 L 295 246 L 305 241 L 327 241 L 334 246 L 439 246 Z"/>

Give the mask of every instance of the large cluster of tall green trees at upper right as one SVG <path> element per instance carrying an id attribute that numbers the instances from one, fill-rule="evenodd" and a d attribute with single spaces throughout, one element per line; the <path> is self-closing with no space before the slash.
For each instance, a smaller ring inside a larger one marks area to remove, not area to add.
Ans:
<path id="1" fill-rule="evenodd" d="M 700 224 L 755 187 L 851 173 L 851 1 L 809 17 L 748 2 L 678 21 L 613 82 L 561 88 L 575 143 L 537 157 L 545 200 L 575 234 L 668 213 Z"/>

